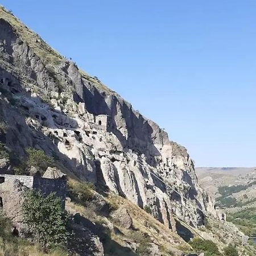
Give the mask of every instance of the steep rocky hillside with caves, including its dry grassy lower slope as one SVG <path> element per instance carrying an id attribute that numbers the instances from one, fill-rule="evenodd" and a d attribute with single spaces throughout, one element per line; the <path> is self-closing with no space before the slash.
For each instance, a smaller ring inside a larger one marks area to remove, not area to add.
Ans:
<path id="1" fill-rule="evenodd" d="M 69 255 L 189 255 L 198 236 L 252 255 L 183 146 L 3 7 L 0 27 L 0 172 L 35 175 L 32 148 L 67 174 Z"/>

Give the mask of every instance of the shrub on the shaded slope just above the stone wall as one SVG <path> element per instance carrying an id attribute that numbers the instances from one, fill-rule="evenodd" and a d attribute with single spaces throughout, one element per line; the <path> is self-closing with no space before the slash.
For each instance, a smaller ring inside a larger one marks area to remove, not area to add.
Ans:
<path id="1" fill-rule="evenodd" d="M 46 169 L 51 166 L 54 166 L 54 160 L 51 156 L 46 155 L 43 150 L 36 150 L 35 148 L 27 148 L 26 149 L 28 159 L 28 166 L 39 167 L 42 172 L 46 171 Z"/>

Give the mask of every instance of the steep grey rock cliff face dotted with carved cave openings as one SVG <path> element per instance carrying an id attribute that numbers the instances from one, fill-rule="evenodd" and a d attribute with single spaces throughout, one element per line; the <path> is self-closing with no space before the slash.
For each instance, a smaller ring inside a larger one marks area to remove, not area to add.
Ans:
<path id="1" fill-rule="evenodd" d="M 1 142 L 20 156 L 42 148 L 167 226 L 172 212 L 193 226 L 203 212 L 217 216 L 184 147 L 2 8 L 0 28 L 0 121 L 9 126 Z"/>

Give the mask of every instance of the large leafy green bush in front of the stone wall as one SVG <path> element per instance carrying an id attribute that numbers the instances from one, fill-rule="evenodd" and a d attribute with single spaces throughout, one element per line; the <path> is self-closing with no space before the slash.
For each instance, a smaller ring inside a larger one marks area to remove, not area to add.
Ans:
<path id="1" fill-rule="evenodd" d="M 68 216 L 55 193 L 46 196 L 42 192 L 28 190 L 22 210 L 24 220 L 40 245 L 47 248 L 67 242 Z"/>

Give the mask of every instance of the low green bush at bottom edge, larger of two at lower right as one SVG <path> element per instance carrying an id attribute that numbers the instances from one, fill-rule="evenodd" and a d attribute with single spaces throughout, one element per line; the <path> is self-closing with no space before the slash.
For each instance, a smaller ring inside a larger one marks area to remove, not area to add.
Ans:
<path id="1" fill-rule="evenodd" d="M 219 256 L 220 252 L 216 243 L 210 240 L 203 240 L 199 237 L 193 238 L 190 245 L 197 253 L 205 253 L 205 256 Z"/>

